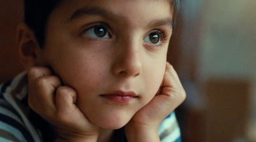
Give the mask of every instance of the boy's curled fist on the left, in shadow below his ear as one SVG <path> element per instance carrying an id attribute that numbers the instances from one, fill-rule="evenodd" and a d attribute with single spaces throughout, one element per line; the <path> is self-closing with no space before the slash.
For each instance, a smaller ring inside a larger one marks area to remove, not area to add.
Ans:
<path id="1" fill-rule="evenodd" d="M 97 141 L 99 128 L 76 106 L 76 90 L 61 86 L 58 76 L 47 67 L 28 71 L 28 104 L 44 120 L 54 125 L 57 141 Z"/>

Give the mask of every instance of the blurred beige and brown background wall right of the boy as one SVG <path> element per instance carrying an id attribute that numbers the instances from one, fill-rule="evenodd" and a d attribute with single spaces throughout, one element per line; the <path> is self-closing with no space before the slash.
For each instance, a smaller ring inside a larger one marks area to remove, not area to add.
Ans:
<path id="1" fill-rule="evenodd" d="M 186 108 L 186 140 L 256 141 L 256 1 L 182 2 L 179 72 L 200 92 L 185 104 L 205 104 Z"/>

